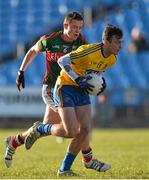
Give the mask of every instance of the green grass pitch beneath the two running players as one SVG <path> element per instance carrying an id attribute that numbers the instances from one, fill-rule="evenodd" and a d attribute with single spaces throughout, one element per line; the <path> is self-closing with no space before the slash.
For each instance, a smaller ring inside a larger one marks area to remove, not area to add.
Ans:
<path id="1" fill-rule="evenodd" d="M 19 147 L 11 168 L 3 162 L 4 139 L 21 130 L 0 130 L 0 179 L 56 179 L 69 140 L 58 144 L 55 137 L 39 139 L 31 150 Z M 91 146 L 94 156 L 112 164 L 106 173 L 87 170 L 82 166 L 81 154 L 72 169 L 76 179 L 149 179 L 149 129 L 94 130 Z"/>

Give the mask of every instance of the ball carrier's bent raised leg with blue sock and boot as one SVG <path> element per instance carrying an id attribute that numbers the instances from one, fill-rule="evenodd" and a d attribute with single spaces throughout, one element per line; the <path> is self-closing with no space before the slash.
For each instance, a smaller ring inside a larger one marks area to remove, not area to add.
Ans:
<path id="1" fill-rule="evenodd" d="M 65 138 L 73 138 L 78 133 L 78 122 L 74 116 L 75 111 L 73 108 L 68 107 L 64 112 L 64 118 L 60 124 L 43 124 L 40 122 L 35 123 L 28 131 L 25 139 L 25 148 L 30 149 L 36 140 L 41 136 L 60 136 Z M 71 118 L 70 118 L 71 117 Z"/>

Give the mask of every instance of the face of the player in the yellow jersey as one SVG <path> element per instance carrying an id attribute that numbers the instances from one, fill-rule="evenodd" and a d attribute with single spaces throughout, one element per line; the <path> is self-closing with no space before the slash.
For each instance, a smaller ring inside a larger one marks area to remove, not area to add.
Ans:
<path id="1" fill-rule="evenodd" d="M 109 51 L 111 54 L 117 55 L 122 46 L 122 39 L 117 36 L 112 36 L 111 42 L 109 42 Z"/>

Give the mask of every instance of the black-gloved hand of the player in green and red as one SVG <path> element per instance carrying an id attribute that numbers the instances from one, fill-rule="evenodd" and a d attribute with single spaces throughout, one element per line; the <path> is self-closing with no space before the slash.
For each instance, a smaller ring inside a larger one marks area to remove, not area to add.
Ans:
<path id="1" fill-rule="evenodd" d="M 24 71 L 18 71 L 18 76 L 16 78 L 16 86 L 18 90 L 21 91 L 22 88 L 25 88 L 25 79 L 24 79 Z"/>

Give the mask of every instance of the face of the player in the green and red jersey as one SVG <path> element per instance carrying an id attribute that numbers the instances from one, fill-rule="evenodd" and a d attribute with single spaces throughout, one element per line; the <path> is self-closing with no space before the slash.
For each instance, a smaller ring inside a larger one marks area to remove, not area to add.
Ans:
<path id="1" fill-rule="evenodd" d="M 80 31 L 83 27 L 83 21 L 72 20 L 69 24 L 65 24 L 65 34 L 69 41 L 74 41 L 79 37 Z"/>

